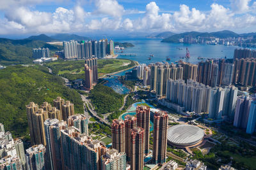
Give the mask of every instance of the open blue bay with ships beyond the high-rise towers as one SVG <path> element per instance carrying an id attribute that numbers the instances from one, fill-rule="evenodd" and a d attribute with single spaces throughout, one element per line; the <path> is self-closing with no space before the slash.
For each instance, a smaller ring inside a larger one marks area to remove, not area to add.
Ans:
<path id="1" fill-rule="evenodd" d="M 124 53 L 117 53 L 118 58 L 136 60 L 140 64 L 150 64 L 151 62 L 165 62 L 166 57 L 170 57 L 170 62 L 180 60 L 180 57 L 185 57 L 186 47 L 190 52 L 190 59 L 183 59 L 186 62 L 196 64 L 198 57 L 205 58 L 233 58 L 234 50 L 241 48 L 240 46 L 225 46 L 225 45 L 207 45 L 207 44 L 183 44 L 183 43 L 161 43 L 161 39 L 114 39 L 118 42 L 132 43 L 134 46 L 126 48 Z M 256 49 L 256 48 L 252 48 Z M 129 56 L 125 53 L 136 53 Z M 151 60 L 148 60 L 149 55 L 153 54 Z"/>

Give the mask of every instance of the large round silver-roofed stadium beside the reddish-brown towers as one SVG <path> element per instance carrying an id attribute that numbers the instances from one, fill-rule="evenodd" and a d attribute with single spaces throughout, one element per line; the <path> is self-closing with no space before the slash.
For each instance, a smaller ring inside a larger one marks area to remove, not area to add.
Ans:
<path id="1" fill-rule="evenodd" d="M 168 143 L 182 147 L 199 143 L 204 135 L 204 130 L 194 125 L 175 125 L 167 130 Z"/>

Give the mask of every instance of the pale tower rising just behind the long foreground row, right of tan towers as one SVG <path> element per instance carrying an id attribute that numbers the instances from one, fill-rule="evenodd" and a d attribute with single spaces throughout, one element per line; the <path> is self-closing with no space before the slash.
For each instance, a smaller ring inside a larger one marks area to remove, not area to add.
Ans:
<path id="1" fill-rule="evenodd" d="M 81 134 L 89 135 L 88 132 L 88 118 L 84 115 L 76 114 L 68 117 L 68 126 L 74 126 L 79 129 Z"/>

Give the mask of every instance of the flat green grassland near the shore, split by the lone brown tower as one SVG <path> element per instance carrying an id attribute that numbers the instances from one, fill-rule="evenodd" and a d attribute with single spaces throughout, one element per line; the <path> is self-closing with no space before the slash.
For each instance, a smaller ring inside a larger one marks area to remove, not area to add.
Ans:
<path id="1" fill-rule="evenodd" d="M 122 66 L 125 63 L 129 63 L 127 66 Z M 56 61 L 49 62 L 45 66 L 52 69 L 52 73 L 60 74 L 61 76 L 68 78 L 68 80 L 76 80 L 78 78 L 84 78 L 84 60 L 74 61 Z M 98 60 L 98 73 L 99 76 L 106 73 L 113 73 L 122 69 L 135 66 L 134 62 L 126 59 L 99 59 Z"/>

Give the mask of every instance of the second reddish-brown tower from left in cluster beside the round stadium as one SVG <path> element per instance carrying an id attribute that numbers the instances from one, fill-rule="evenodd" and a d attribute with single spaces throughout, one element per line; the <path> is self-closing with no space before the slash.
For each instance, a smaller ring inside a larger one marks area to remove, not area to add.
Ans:
<path id="1" fill-rule="evenodd" d="M 137 126 L 137 118 L 131 115 L 125 116 L 125 153 L 127 160 L 131 160 L 131 129 Z"/>

